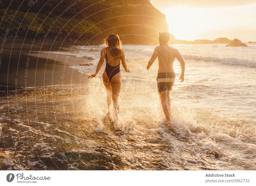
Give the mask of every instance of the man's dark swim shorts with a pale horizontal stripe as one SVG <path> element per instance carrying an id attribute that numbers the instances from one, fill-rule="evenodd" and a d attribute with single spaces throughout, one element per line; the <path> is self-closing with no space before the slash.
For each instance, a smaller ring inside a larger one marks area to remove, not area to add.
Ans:
<path id="1" fill-rule="evenodd" d="M 163 92 L 165 90 L 172 90 L 172 86 L 175 81 L 174 72 L 162 72 L 157 74 L 157 89 L 158 92 Z"/>

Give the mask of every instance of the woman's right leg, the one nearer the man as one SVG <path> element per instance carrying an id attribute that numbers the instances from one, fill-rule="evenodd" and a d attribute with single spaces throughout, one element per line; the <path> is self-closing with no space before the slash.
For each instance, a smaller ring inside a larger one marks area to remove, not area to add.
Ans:
<path id="1" fill-rule="evenodd" d="M 111 88 L 112 88 L 112 100 L 114 105 L 115 114 L 119 113 L 119 104 L 118 104 L 118 97 L 121 89 L 121 73 L 118 72 L 112 79 L 111 79 Z"/>

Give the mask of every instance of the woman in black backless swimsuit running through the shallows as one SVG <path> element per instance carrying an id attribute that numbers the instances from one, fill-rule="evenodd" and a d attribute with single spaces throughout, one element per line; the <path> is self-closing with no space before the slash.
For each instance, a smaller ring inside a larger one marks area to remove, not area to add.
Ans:
<path id="1" fill-rule="evenodd" d="M 122 41 L 120 41 L 119 36 L 111 33 L 104 41 L 107 47 L 102 48 L 96 72 L 88 76 L 88 79 L 97 76 L 104 63 L 104 59 L 106 59 L 106 68 L 102 75 L 102 80 L 107 90 L 108 115 L 110 115 L 109 106 L 112 97 L 115 114 L 117 116 L 119 113 L 118 96 L 121 88 L 120 60 L 122 61 L 124 70 L 129 73 L 130 70 L 127 69 L 125 63 L 124 50 L 121 48 Z"/>

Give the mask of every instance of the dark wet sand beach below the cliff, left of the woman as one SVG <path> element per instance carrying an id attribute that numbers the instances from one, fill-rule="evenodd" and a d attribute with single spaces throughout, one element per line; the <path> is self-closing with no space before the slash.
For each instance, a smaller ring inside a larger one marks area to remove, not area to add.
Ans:
<path id="1" fill-rule="evenodd" d="M 84 64 L 83 58 L 48 53 L 73 50 L 76 48 L 51 43 L 6 44 L 0 66 L 0 90 L 85 83 L 86 76 L 69 67 Z"/>

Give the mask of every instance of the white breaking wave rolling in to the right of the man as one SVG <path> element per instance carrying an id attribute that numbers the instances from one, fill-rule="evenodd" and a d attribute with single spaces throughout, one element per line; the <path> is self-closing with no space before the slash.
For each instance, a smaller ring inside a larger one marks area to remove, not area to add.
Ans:
<path id="1" fill-rule="evenodd" d="M 249 59 L 239 59 L 236 57 L 227 57 L 227 58 L 220 58 L 220 57 L 213 57 L 213 56 L 194 56 L 194 55 L 182 55 L 184 59 L 192 59 L 196 61 L 204 61 L 204 62 L 219 62 L 223 65 L 240 65 L 240 66 L 247 66 L 247 67 L 256 67 L 256 61 L 249 60 Z"/>

